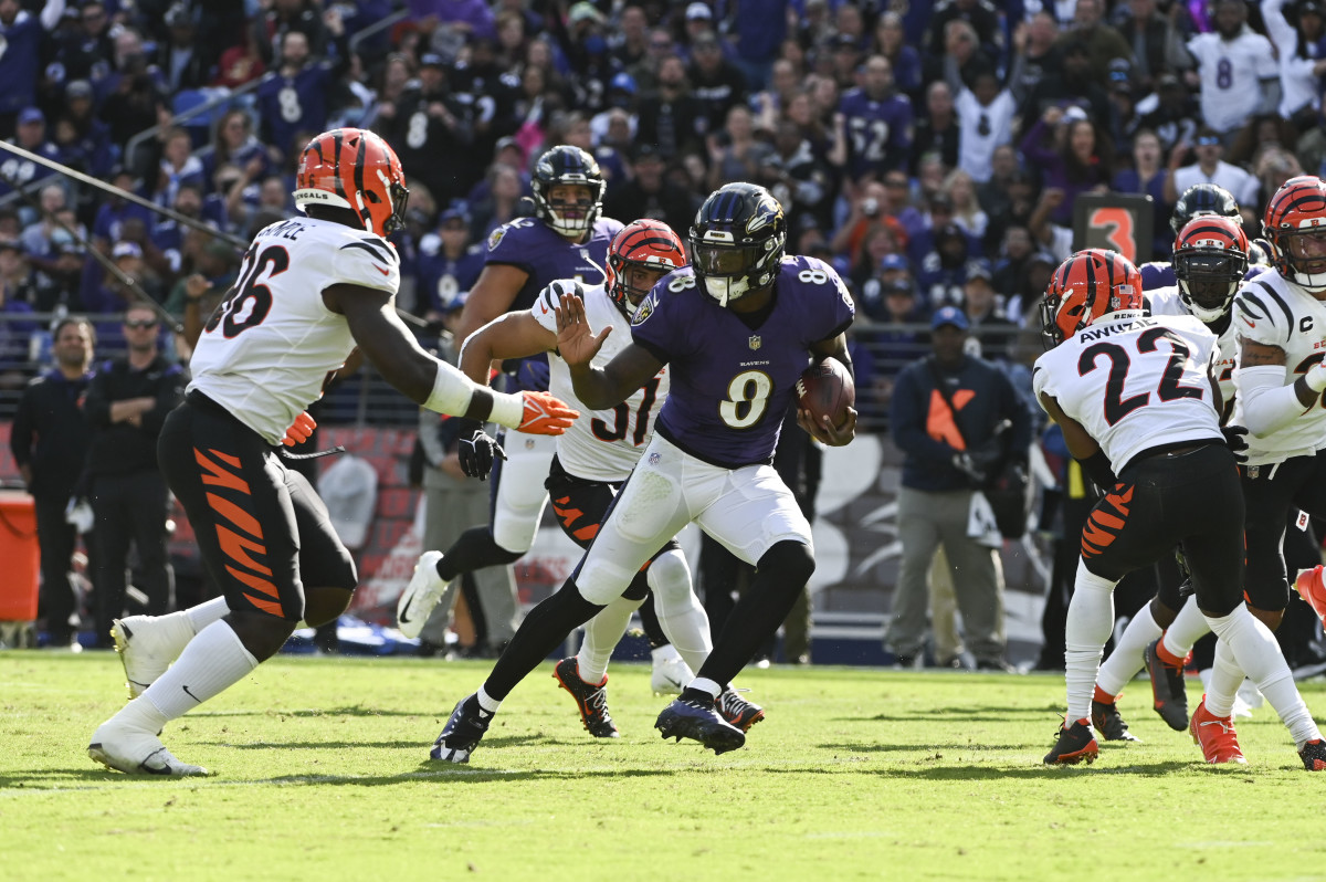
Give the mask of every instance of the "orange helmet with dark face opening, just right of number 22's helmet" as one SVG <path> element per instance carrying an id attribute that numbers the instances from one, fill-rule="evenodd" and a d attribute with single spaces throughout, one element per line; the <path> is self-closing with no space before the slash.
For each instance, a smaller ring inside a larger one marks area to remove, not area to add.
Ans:
<path id="1" fill-rule="evenodd" d="M 1238 283 L 1248 272 L 1248 235 L 1238 220 L 1200 215 L 1174 240 L 1174 277 L 1179 298 L 1201 321 L 1229 314 Z"/>

